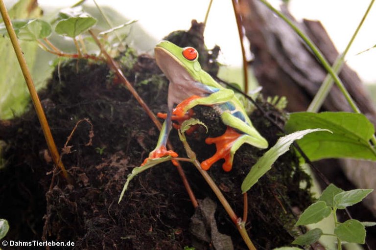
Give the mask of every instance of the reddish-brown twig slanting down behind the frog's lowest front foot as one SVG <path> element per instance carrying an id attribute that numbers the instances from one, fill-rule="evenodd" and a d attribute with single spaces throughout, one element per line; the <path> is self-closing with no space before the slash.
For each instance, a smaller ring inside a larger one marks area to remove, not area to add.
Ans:
<path id="1" fill-rule="evenodd" d="M 146 105 L 146 103 L 142 100 L 141 96 L 137 93 L 137 91 L 132 87 L 132 85 L 129 83 L 129 81 L 127 80 L 127 78 L 124 76 L 123 72 L 121 71 L 121 69 L 118 67 L 118 64 L 114 61 L 114 59 L 107 53 L 107 51 L 105 50 L 105 48 L 103 47 L 103 45 L 100 43 L 100 41 L 98 40 L 98 38 L 94 35 L 93 31 L 92 30 L 89 30 L 89 33 L 92 35 L 96 45 L 99 47 L 101 53 L 105 56 L 106 60 L 107 60 L 107 64 L 110 66 L 110 68 L 112 70 L 115 71 L 116 75 L 118 76 L 118 78 L 121 80 L 121 82 L 127 87 L 127 89 L 132 93 L 132 95 L 136 98 L 136 100 L 139 102 L 139 104 L 141 105 L 141 107 L 143 108 L 143 110 L 146 112 L 146 114 L 150 117 L 150 119 L 153 121 L 153 123 L 155 124 L 155 126 L 157 126 L 157 128 L 159 130 L 162 129 L 162 124 L 159 122 L 159 120 L 157 119 L 157 117 L 155 116 L 155 114 L 149 109 L 149 107 Z M 168 149 L 171 149 L 172 150 L 172 145 L 170 142 L 167 142 L 167 147 Z M 198 206 L 198 202 L 197 202 L 197 199 L 196 197 L 194 196 L 193 194 L 193 191 L 188 183 L 188 180 L 187 180 L 187 177 L 183 171 L 183 168 L 182 166 L 179 164 L 178 162 L 178 166 L 176 166 L 176 169 L 178 170 L 179 172 L 179 175 L 183 181 L 183 184 L 187 190 L 187 193 L 188 193 L 188 196 L 189 196 L 189 199 L 190 201 L 192 202 L 192 205 L 194 207 L 197 207 Z"/>

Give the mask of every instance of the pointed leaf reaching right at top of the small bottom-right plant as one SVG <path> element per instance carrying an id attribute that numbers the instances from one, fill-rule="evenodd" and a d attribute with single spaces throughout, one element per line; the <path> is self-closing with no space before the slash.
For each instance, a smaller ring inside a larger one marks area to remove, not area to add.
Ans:
<path id="1" fill-rule="evenodd" d="M 353 189 L 343 191 L 334 196 L 334 205 L 338 209 L 345 209 L 348 206 L 361 202 L 373 189 Z"/>

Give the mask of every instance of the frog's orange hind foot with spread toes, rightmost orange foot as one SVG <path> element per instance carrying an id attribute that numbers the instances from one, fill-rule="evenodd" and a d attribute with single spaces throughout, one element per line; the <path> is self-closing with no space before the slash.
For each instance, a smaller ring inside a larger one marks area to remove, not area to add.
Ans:
<path id="1" fill-rule="evenodd" d="M 227 127 L 226 132 L 222 136 L 206 138 L 205 142 L 207 144 L 215 143 L 217 152 L 215 152 L 211 158 L 201 162 L 202 169 L 209 170 L 212 164 L 220 159 L 225 159 L 225 163 L 223 163 L 222 168 L 224 171 L 229 172 L 233 167 L 234 159 L 234 155 L 231 154 L 231 147 L 239 136 L 242 135 L 237 133 L 233 128 Z"/>

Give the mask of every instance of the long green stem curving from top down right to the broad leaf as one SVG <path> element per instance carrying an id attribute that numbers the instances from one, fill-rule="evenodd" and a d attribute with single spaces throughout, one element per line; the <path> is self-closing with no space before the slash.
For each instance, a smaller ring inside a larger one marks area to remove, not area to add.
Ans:
<path id="1" fill-rule="evenodd" d="M 320 50 L 313 44 L 313 42 L 288 18 L 286 18 L 279 10 L 274 8 L 269 2 L 266 0 L 259 0 L 261 1 L 266 7 L 272 10 L 276 15 L 278 15 L 284 22 L 286 22 L 305 42 L 305 44 L 311 49 L 313 54 L 317 57 L 317 60 L 322 64 L 322 66 L 328 71 L 330 76 L 333 78 L 334 83 L 337 85 L 338 89 L 342 92 L 345 96 L 347 102 L 349 103 L 352 110 L 357 113 L 361 114 L 358 106 L 352 99 L 349 91 L 346 90 L 345 86 L 343 85 L 341 79 L 339 79 L 338 75 L 334 72 L 334 70 L 330 67 L 328 61 L 325 59 L 324 55 L 320 52 Z M 374 146 L 376 146 L 376 136 L 373 135 L 371 137 L 371 141 L 373 142 Z"/>

